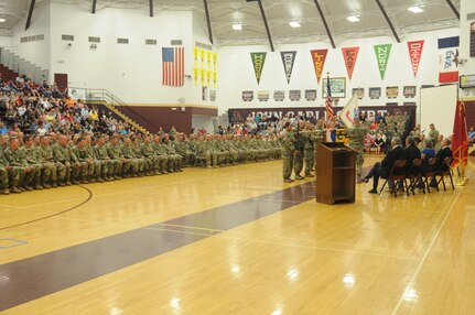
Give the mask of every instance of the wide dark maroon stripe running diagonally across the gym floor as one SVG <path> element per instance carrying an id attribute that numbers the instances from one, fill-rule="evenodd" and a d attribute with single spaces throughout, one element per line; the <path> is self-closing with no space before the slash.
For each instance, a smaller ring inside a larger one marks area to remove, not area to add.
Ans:
<path id="1" fill-rule="evenodd" d="M 160 226 L 162 224 L 190 226 L 186 222 L 193 222 L 192 226 L 203 229 L 229 230 L 295 205 L 260 198 L 281 196 L 283 199 L 303 203 L 311 199 L 306 196 L 313 189 L 313 183 L 305 183 L 144 228 L 136 228 L 0 264 L 0 274 L 9 274 L 10 278 L 10 281 L 0 285 L 0 312 L 219 233 L 219 231 L 210 235 L 164 230 Z M 46 282 L 48 283 L 46 286 L 31 285 L 31 283 Z"/>

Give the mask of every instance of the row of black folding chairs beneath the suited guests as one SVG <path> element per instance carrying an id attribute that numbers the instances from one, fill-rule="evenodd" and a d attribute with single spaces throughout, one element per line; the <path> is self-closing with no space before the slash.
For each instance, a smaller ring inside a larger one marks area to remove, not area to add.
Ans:
<path id="1" fill-rule="evenodd" d="M 435 183 L 435 189 L 438 192 L 439 185 L 441 183 L 444 187 L 444 191 L 446 191 L 446 177 L 449 177 L 451 181 L 452 189 L 455 189 L 451 169 L 452 161 L 453 158 L 445 158 L 444 161 L 442 161 L 442 163 L 436 166 L 439 160 L 438 158 L 432 158 L 428 161 L 427 169 L 423 170 L 421 159 L 415 159 L 412 161 L 412 163 L 409 163 L 408 160 L 398 160 L 389 172 L 389 175 L 386 178 L 379 194 L 382 193 L 385 186 L 388 184 L 389 181 L 392 181 L 392 183 L 395 183 L 395 187 L 392 189 L 395 197 L 398 196 L 398 187 L 396 187 L 396 183 L 400 183 L 400 185 L 402 185 L 408 196 L 410 195 L 410 193 L 412 193 L 412 195 L 415 195 L 414 191 L 418 187 L 420 187 L 424 194 L 425 189 L 428 191 L 428 193 L 431 193 L 431 183 Z"/>

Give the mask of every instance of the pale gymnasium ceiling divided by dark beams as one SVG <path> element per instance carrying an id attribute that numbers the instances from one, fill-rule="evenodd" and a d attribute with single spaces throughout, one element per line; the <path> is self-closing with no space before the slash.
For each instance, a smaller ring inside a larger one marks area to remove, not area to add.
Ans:
<path id="1" fill-rule="evenodd" d="M 93 0 L 36 0 L 78 6 L 89 10 Z M 274 44 L 291 44 L 328 41 L 323 20 L 314 0 L 261 0 L 269 22 Z M 379 0 L 399 37 L 408 33 L 445 29 L 458 25 L 458 19 L 449 6 L 453 3 L 460 12 L 461 0 Z M 0 23 L 3 33 L 20 23 L 28 15 L 31 0 L 0 0 Z M 259 4 L 247 0 L 207 0 L 215 44 L 251 45 L 268 43 L 268 36 Z M 377 0 L 317 0 L 327 21 L 334 42 L 352 37 L 393 36 Z M 419 6 L 421 13 L 412 13 L 408 8 Z M 154 12 L 163 10 L 193 10 L 206 25 L 203 0 L 153 0 Z M 97 0 L 97 13 L 105 8 L 138 9 L 143 19 L 149 19 L 149 0 Z M 98 14 L 99 15 L 99 14 Z M 349 22 L 347 17 L 356 15 L 359 22 Z M 99 18 L 99 17 L 98 17 Z M 291 28 L 289 22 L 298 21 L 300 28 Z M 22 22 L 24 23 L 24 22 Z M 241 31 L 233 30 L 233 24 L 241 24 Z"/>

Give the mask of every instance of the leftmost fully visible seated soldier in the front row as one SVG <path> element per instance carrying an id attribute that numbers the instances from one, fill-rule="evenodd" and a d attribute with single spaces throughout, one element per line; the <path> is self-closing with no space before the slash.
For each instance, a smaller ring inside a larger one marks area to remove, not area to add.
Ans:
<path id="1" fill-rule="evenodd" d="M 30 173 L 33 169 L 28 166 L 26 160 L 22 159 L 20 141 L 18 138 L 10 138 L 10 145 L 4 150 L 3 154 L 10 165 L 10 192 L 21 193 L 26 188 L 22 187 L 25 173 Z M 33 187 L 28 186 L 29 191 Z"/>

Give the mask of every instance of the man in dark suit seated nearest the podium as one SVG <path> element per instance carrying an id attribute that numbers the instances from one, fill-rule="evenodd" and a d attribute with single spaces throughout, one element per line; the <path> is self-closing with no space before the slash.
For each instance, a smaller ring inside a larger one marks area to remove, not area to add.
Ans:
<path id="1" fill-rule="evenodd" d="M 373 189 L 368 192 L 369 194 L 378 193 L 379 177 L 388 178 L 396 161 L 406 160 L 408 158 L 404 149 L 401 146 L 401 139 L 399 137 L 392 138 L 391 148 L 392 149 L 386 154 L 385 159 L 381 162 L 377 162 L 369 171 L 368 175 L 361 180 L 363 182 L 368 183 L 369 178 L 373 177 Z M 393 187 L 395 183 L 389 183 L 389 188 L 393 189 Z"/>

